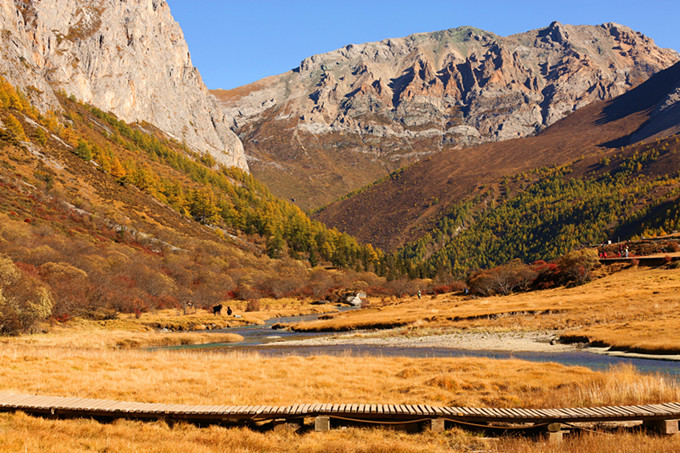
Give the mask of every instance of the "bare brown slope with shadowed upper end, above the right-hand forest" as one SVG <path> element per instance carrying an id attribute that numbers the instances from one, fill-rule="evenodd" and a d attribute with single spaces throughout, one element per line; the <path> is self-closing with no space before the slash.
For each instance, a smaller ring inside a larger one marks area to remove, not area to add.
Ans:
<path id="1" fill-rule="evenodd" d="M 574 112 L 538 136 L 435 154 L 332 203 L 315 217 L 363 241 L 395 249 L 421 236 L 452 203 L 503 176 L 629 144 L 655 127 L 654 112 L 678 81 L 676 64 L 623 96 Z"/>

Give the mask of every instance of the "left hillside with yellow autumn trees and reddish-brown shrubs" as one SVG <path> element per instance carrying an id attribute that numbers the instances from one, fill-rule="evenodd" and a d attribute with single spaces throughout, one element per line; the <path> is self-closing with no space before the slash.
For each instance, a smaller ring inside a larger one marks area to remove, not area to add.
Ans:
<path id="1" fill-rule="evenodd" d="M 251 175 L 153 126 L 57 101 L 63 116 L 41 115 L 0 77 L 0 267 L 9 257 L 12 275 L 47 288 L 55 318 L 227 300 L 243 310 L 233 299 L 385 283 L 368 272 L 378 252 Z"/>

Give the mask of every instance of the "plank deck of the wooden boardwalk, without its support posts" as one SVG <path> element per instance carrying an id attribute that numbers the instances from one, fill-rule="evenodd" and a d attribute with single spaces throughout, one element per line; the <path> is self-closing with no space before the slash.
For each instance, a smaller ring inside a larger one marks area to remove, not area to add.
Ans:
<path id="1" fill-rule="evenodd" d="M 130 418 L 192 423 L 249 423 L 330 417 L 356 422 L 413 422 L 445 419 L 460 423 L 525 424 L 680 419 L 680 403 L 563 409 L 433 407 L 394 404 L 295 404 L 292 406 L 217 406 L 135 403 L 101 399 L 0 393 L 0 412 L 87 418 Z"/>

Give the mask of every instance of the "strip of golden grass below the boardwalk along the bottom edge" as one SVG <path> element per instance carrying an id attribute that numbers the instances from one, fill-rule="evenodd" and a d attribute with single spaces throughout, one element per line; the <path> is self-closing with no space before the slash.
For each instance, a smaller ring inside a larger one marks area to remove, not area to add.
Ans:
<path id="1" fill-rule="evenodd" d="M 334 430 L 295 434 L 246 428 L 92 420 L 46 420 L 24 414 L 0 414 L 0 452 L 617 452 L 674 453 L 680 436 L 642 433 L 586 433 L 560 444 L 524 438 L 483 439 L 459 430 L 404 434 L 383 429 Z"/>

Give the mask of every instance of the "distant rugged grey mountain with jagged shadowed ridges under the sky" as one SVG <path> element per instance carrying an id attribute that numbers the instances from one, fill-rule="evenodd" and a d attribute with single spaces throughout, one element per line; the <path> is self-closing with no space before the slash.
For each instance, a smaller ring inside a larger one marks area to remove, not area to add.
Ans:
<path id="1" fill-rule="evenodd" d="M 305 208 L 444 149 L 532 135 L 678 60 L 617 25 L 348 45 L 217 91 L 256 176 Z"/>

